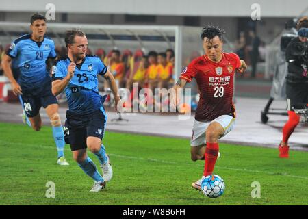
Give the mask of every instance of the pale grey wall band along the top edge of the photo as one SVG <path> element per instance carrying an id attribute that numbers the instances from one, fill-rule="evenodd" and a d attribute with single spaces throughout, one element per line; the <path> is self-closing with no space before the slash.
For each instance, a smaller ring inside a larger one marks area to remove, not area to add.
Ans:
<path id="1" fill-rule="evenodd" d="M 41 11 L 53 3 L 57 12 L 91 13 L 91 14 L 156 14 L 168 16 L 251 16 L 252 5 L 260 5 L 263 17 L 294 17 L 307 8 L 307 0 L 237 0 L 234 1 L 180 1 L 178 0 L 0 0 L 1 11 L 32 12 Z"/>

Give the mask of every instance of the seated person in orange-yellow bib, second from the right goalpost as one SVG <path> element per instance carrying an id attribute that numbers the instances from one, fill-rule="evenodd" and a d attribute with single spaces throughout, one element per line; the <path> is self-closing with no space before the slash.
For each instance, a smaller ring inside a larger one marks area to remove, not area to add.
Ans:
<path id="1" fill-rule="evenodd" d="M 173 66 L 167 62 L 166 53 L 159 53 L 157 57 L 158 88 L 168 88 L 168 82 L 172 78 Z"/>

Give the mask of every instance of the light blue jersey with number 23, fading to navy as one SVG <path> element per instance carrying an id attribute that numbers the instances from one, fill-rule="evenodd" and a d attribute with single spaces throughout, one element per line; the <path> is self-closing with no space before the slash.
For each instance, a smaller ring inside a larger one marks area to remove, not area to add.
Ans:
<path id="1" fill-rule="evenodd" d="M 70 62 L 66 57 L 55 63 L 53 81 L 66 77 Z M 88 114 L 101 108 L 97 75 L 105 75 L 105 73 L 107 73 L 107 67 L 97 56 L 87 55 L 80 64 L 76 65 L 75 74 L 65 88 L 70 112 Z"/>

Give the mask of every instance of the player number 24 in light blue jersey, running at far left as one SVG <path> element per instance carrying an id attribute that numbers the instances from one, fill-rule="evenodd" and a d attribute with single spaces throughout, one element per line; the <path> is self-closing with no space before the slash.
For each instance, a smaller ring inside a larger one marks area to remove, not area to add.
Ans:
<path id="1" fill-rule="evenodd" d="M 64 157 L 64 133 L 61 125 L 57 99 L 51 92 L 51 76 L 46 62 L 55 59 L 55 44 L 45 37 L 46 18 L 42 14 L 31 16 L 31 34 L 16 39 L 4 55 L 2 66 L 10 80 L 15 95 L 20 95 L 23 109 L 35 131 L 40 131 L 42 119 L 40 108 L 46 109 L 53 129 L 53 138 L 57 146 L 57 164 L 68 165 Z M 11 63 L 18 69 L 19 77 L 14 79 Z"/>

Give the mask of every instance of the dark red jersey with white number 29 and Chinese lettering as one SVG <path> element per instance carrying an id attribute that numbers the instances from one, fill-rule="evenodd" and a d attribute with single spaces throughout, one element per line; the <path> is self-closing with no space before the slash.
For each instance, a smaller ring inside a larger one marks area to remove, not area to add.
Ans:
<path id="1" fill-rule="evenodd" d="M 200 101 L 196 109 L 196 120 L 214 120 L 218 116 L 235 117 L 233 105 L 233 77 L 241 62 L 235 53 L 222 53 L 220 62 L 212 62 L 207 55 L 190 62 L 180 79 L 196 79 L 200 90 Z"/>

